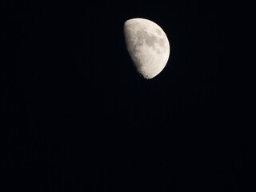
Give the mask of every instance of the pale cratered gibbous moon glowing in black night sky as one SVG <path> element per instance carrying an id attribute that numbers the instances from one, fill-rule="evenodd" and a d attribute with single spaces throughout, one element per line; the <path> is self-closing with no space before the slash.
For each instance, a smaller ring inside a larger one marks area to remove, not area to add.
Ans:
<path id="1" fill-rule="evenodd" d="M 124 23 L 124 37 L 130 58 L 139 74 L 154 78 L 166 66 L 170 45 L 165 32 L 145 18 L 132 18 Z"/>

